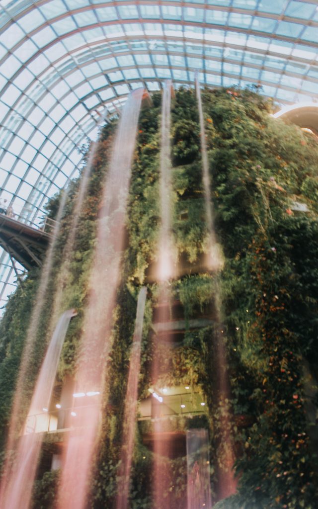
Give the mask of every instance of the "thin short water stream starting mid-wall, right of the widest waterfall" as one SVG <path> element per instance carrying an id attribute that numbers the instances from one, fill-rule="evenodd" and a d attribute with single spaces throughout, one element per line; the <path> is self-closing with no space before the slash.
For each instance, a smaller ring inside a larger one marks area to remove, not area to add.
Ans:
<path id="1" fill-rule="evenodd" d="M 133 336 L 133 343 L 129 362 L 129 374 L 124 412 L 124 432 L 122 441 L 121 466 L 119 471 L 116 509 L 128 509 L 130 474 L 137 417 L 138 378 L 140 372 L 142 325 L 146 297 L 147 297 L 147 287 L 142 287 L 138 295 L 135 331 Z"/>

